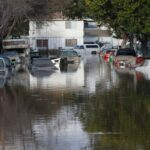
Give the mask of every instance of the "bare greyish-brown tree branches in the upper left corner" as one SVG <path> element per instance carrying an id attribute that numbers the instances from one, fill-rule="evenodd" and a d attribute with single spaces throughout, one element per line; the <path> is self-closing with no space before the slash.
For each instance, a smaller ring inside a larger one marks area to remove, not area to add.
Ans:
<path id="1" fill-rule="evenodd" d="M 11 34 L 19 19 L 45 18 L 65 4 L 62 0 L 0 0 L 1 39 Z"/>

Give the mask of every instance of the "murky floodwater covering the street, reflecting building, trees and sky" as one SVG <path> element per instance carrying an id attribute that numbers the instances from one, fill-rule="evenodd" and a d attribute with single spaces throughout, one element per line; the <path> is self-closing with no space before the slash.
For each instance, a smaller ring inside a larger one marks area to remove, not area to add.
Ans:
<path id="1" fill-rule="evenodd" d="M 99 56 L 0 78 L 0 150 L 149 150 L 150 81 Z"/>

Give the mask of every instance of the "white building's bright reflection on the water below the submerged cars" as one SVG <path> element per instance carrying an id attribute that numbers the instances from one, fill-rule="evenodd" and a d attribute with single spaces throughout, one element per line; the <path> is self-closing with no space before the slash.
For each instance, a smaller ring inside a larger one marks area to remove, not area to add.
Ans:
<path id="1" fill-rule="evenodd" d="M 63 68 L 64 67 L 64 68 Z M 84 64 L 67 64 L 55 70 L 51 76 L 37 78 L 30 74 L 30 88 L 82 89 L 84 87 Z"/>

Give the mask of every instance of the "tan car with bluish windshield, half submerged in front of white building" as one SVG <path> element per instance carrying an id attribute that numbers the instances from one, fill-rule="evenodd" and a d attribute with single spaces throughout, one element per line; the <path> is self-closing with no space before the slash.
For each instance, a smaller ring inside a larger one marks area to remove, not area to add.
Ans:
<path id="1" fill-rule="evenodd" d="M 80 56 L 73 49 L 61 49 L 60 64 L 80 63 Z"/>

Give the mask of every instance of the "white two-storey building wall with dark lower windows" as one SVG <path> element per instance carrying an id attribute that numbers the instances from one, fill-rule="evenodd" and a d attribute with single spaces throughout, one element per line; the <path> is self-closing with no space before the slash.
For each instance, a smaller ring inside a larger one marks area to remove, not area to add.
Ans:
<path id="1" fill-rule="evenodd" d="M 83 44 L 84 23 L 81 20 L 30 21 L 29 38 L 33 49 L 58 49 Z"/>

